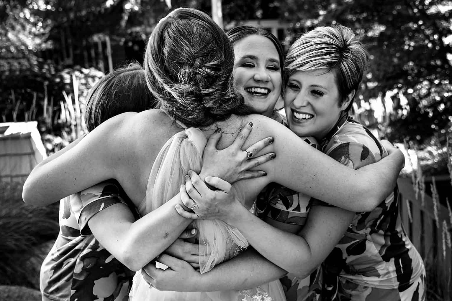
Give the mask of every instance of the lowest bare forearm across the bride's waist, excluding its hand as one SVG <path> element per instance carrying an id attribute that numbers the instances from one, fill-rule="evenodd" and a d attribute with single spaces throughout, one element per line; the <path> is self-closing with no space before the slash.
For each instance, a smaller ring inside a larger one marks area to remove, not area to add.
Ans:
<path id="1" fill-rule="evenodd" d="M 195 291 L 242 290 L 279 279 L 287 272 L 250 248 L 196 279 Z"/>

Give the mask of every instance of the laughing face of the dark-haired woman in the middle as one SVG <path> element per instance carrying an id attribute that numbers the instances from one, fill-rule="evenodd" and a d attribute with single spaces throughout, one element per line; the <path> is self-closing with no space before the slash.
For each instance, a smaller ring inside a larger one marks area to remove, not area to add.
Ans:
<path id="1" fill-rule="evenodd" d="M 281 62 L 266 37 L 252 35 L 234 45 L 234 81 L 255 114 L 270 117 L 281 94 Z"/>

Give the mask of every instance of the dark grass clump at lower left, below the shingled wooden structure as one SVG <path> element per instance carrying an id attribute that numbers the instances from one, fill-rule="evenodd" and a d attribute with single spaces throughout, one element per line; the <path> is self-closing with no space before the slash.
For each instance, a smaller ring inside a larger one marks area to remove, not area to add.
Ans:
<path id="1" fill-rule="evenodd" d="M 58 230 L 58 204 L 26 205 L 22 184 L 0 182 L 0 284 L 38 288 L 42 259 Z"/>

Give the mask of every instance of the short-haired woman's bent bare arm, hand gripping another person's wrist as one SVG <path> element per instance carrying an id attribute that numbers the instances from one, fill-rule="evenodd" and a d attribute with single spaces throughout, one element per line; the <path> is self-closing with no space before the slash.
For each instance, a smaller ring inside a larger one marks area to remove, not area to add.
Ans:
<path id="1" fill-rule="evenodd" d="M 330 254 L 355 214 L 337 207 L 313 206 L 305 227 L 298 235 L 292 234 L 251 213 L 235 197 L 235 189 L 226 181 L 207 177 L 206 181 L 218 189 L 212 191 L 199 181 L 196 173 L 189 174 L 191 179 L 187 179 L 185 186 L 191 199 L 183 190 L 180 195 L 185 206 L 196 204 L 195 213 L 181 211 L 177 206 L 179 214 L 198 218 L 201 212 L 203 215 L 208 212 L 209 219 L 221 219 L 236 227 L 261 255 L 300 278 L 308 276 Z M 209 204 L 205 205 L 203 199 L 209 199 Z"/>

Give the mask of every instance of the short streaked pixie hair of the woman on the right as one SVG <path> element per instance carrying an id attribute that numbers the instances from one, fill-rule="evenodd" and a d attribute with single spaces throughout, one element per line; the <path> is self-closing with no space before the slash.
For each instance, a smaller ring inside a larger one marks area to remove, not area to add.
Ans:
<path id="1" fill-rule="evenodd" d="M 288 76 L 297 71 L 333 71 L 341 105 L 349 93 L 358 91 L 368 61 L 369 54 L 353 31 L 336 25 L 318 27 L 299 37 L 287 52 L 285 66 Z"/>

